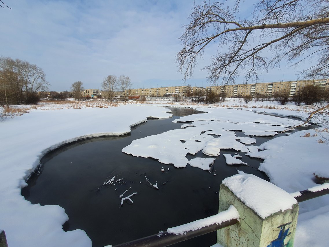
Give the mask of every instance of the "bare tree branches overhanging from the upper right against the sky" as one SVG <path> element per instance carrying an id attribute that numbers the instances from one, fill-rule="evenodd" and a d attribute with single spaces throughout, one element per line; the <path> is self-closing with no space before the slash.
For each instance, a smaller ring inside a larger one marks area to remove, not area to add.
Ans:
<path id="1" fill-rule="evenodd" d="M 219 46 L 205 67 L 213 85 L 235 83 L 240 72 L 245 83 L 257 81 L 260 72 L 281 62 L 309 64 L 300 71 L 305 79 L 329 75 L 328 0 L 259 0 L 250 17 L 240 15 L 239 5 L 240 0 L 234 6 L 206 1 L 193 6 L 177 53 L 185 80 L 210 43 Z"/>

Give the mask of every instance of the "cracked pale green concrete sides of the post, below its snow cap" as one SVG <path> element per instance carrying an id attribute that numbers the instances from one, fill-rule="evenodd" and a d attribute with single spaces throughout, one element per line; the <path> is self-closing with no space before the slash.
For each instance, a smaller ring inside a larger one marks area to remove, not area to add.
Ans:
<path id="1" fill-rule="evenodd" d="M 273 201 L 275 203 L 275 201 Z M 292 209 L 274 213 L 262 219 L 251 208 L 244 205 L 225 185 L 220 185 L 219 190 L 219 212 L 227 210 L 230 205 L 236 207 L 240 214 L 238 224 L 217 231 L 217 243 L 224 247 L 266 247 L 271 241 L 278 238 L 281 228 L 287 224 L 284 230 L 289 228 L 289 235 L 283 240 L 284 244 L 293 246 L 295 235 L 298 204 Z"/>

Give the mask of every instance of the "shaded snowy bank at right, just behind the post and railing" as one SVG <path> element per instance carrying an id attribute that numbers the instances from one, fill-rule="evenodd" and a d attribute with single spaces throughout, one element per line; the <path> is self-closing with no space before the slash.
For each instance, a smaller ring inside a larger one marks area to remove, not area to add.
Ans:
<path id="1" fill-rule="evenodd" d="M 314 187 L 314 174 L 329 178 L 328 145 L 318 143 L 319 134 L 325 134 L 316 129 L 310 129 L 310 137 L 303 137 L 305 131 L 295 132 L 289 136 L 271 139 L 259 149 L 262 151 L 247 153 L 250 157 L 264 159 L 260 170 L 265 172 L 271 182 L 287 192 L 296 192 Z M 322 196 L 300 204 L 300 212 L 312 201 L 328 201 L 328 196 Z M 316 204 L 314 204 L 316 205 Z M 323 205 L 320 203 L 320 205 Z M 308 206 L 307 206 L 308 207 Z"/>

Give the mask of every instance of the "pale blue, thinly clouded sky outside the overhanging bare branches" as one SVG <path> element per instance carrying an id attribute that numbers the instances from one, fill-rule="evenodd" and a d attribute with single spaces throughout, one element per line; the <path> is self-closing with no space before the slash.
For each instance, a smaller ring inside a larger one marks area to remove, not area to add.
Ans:
<path id="1" fill-rule="evenodd" d="M 69 91 L 75 81 L 101 89 L 103 79 L 111 74 L 129 76 L 132 88 L 210 85 L 203 68 L 220 51 L 216 43 L 206 47 L 186 82 L 175 62 L 183 47 L 179 37 L 189 23 L 191 0 L 3 2 L 11 9 L 0 8 L 0 56 L 42 68 L 51 91 Z M 241 15 L 251 14 L 253 2 L 242 3 Z M 259 82 L 297 80 L 297 74 L 282 65 L 263 72 Z"/>

